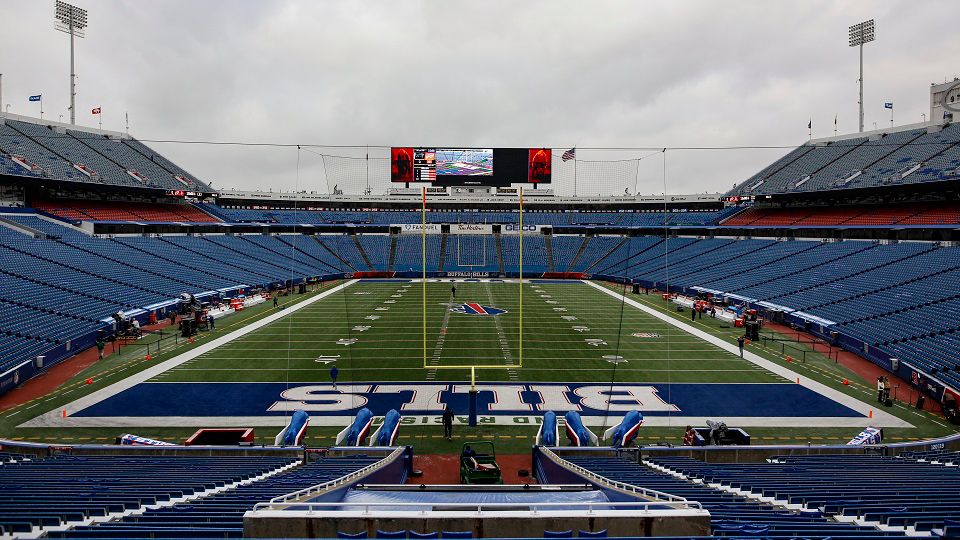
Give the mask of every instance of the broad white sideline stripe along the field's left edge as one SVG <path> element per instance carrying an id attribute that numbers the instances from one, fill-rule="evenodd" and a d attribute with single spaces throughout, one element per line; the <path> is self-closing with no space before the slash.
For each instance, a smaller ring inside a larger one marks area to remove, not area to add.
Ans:
<path id="1" fill-rule="evenodd" d="M 227 343 L 230 343 L 231 341 L 237 338 L 243 337 L 255 330 L 263 328 L 264 326 L 267 326 L 268 324 L 276 322 L 286 317 L 287 315 L 292 315 L 293 313 L 296 313 L 297 311 L 309 306 L 310 304 L 313 304 L 314 302 L 318 302 L 330 296 L 331 294 L 339 292 L 349 287 L 350 285 L 353 285 L 357 281 L 359 280 L 352 279 L 345 283 L 341 283 L 336 287 L 327 289 L 326 291 L 314 296 L 313 298 L 304 300 L 303 302 L 300 302 L 288 308 L 284 308 L 278 311 L 277 313 L 274 313 L 273 315 L 268 315 L 267 317 L 264 317 L 254 323 L 248 324 L 243 328 L 234 330 L 229 334 L 225 334 L 216 339 L 210 340 L 207 343 L 194 347 L 193 349 L 190 349 L 189 351 L 183 354 L 179 354 L 169 360 L 165 360 L 163 362 L 160 362 L 159 364 L 151 366 L 139 373 L 135 373 L 123 379 L 122 381 L 118 381 L 116 383 L 111 384 L 110 386 L 101 388 L 100 390 L 97 390 L 96 392 L 83 396 L 82 398 L 77 399 L 76 401 L 71 401 L 70 403 L 67 403 L 62 407 L 58 407 L 53 411 L 48 411 L 44 414 L 41 414 L 40 416 L 37 416 L 32 420 L 28 420 L 27 422 L 20 424 L 20 426 L 18 427 L 59 427 L 59 426 L 69 425 L 69 423 L 64 422 L 64 420 L 69 420 L 69 414 L 71 411 L 80 411 L 80 410 L 86 409 L 87 407 L 90 407 L 91 405 L 99 403 L 109 397 L 115 396 L 120 392 L 123 392 L 124 390 L 133 388 L 134 386 L 140 383 L 146 382 L 165 371 L 168 371 L 190 360 L 193 360 L 194 358 L 200 356 L 201 354 L 210 352 L 216 349 L 217 347 L 226 345 Z M 61 409 L 66 409 L 68 418 L 62 418 L 60 416 Z"/>

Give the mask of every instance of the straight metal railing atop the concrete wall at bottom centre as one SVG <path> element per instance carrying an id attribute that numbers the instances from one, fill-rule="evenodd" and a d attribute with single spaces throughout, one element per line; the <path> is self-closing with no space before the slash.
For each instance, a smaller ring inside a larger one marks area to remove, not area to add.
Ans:
<path id="1" fill-rule="evenodd" d="M 527 506 L 527 508 L 518 508 L 518 506 Z M 442 507 L 442 510 L 436 510 L 435 507 Z M 666 508 L 663 508 L 666 507 Z M 489 502 L 489 503 L 455 503 L 455 502 L 293 502 L 293 503 L 257 503 L 253 507 L 253 512 L 277 510 L 277 511 L 304 511 L 307 514 L 328 509 L 329 512 L 360 512 L 363 515 L 372 515 L 371 509 L 385 509 L 390 512 L 416 512 L 419 515 L 427 515 L 432 512 L 470 512 L 477 516 L 485 514 L 511 513 L 537 515 L 540 513 L 549 514 L 549 510 L 556 509 L 559 512 L 569 512 L 575 508 L 586 509 L 587 515 L 608 510 L 611 512 L 622 513 L 625 509 L 639 509 L 642 513 L 650 513 L 657 510 L 695 510 L 704 512 L 703 507 L 696 501 L 565 501 L 565 502 L 531 502 L 529 505 L 518 504 L 517 502 Z M 497 512 L 497 511 L 500 512 Z"/>

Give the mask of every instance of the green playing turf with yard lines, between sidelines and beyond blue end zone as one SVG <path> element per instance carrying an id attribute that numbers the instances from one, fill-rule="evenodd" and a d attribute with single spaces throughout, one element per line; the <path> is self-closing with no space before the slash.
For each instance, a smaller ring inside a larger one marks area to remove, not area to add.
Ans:
<path id="1" fill-rule="evenodd" d="M 451 313 L 458 301 L 508 312 Z M 621 309 L 618 299 L 580 283 L 524 285 L 522 365 L 518 284 L 462 283 L 454 301 L 448 284 L 431 283 L 426 305 L 427 369 L 422 285 L 361 282 L 154 380 L 325 382 L 329 368 L 317 359 L 339 355 L 341 382 L 462 381 L 469 370 L 451 366 L 465 365 L 500 368 L 480 370 L 485 381 L 783 382 L 646 313 Z M 659 337 L 632 336 L 636 332 Z M 341 339 L 357 341 L 338 345 Z M 627 362 L 614 364 L 605 355 Z"/>

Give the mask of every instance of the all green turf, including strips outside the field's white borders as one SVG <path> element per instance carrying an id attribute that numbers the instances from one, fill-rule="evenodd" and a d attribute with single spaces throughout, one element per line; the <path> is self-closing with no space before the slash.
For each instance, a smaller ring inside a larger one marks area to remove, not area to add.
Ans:
<path id="1" fill-rule="evenodd" d="M 329 289 L 327 284 L 320 290 Z M 404 287 L 404 285 L 408 285 Z M 620 287 L 611 289 L 622 291 Z M 362 294 L 358 294 L 362 293 Z M 390 381 L 465 381 L 469 372 L 450 368 L 456 365 L 497 366 L 477 371 L 483 381 L 595 381 L 595 382 L 783 382 L 739 357 L 723 351 L 695 336 L 647 315 L 618 299 L 580 284 L 525 284 L 523 289 L 523 351 L 520 366 L 519 285 L 516 283 L 460 283 L 459 302 L 479 302 L 507 309 L 497 317 L 478 317 L 451 313 L 455 305 L 449 283 L 427 286 L 427 367 L 423 352 L 423 301 L 419 283 L 359 282 L 342 292 L 322 299 L 293 315 L 252 332 L 197 359 L 174 368 L 153 380 L 161 381 L 280 381 L 325 382 L 329 366 L 318 363 L 320 356 L 336 356 L 341 383 Z M 295 296 L 285 303 L 310 298 Z M 399 295 L 399 297 L 396 297 Z M 686 313 L 678 314 L 657 295 L 633 295 L 663 313 L 690 322 Z M 393 301 L 393 303 L 386 303 Z M 548 303 L 548 301 L 556 303 Z M 376 308 L 389 308 L 376 310 Z M 554 308 L 564 308 L 557 311 Z M 267 314 L 271 305 L 263 304 L 218 323 L 215 335 L 235 330 Z M 379 316 L 376 320 L 367 317 Z M 576 317 L 569 321 L 563 317 Z M 693 323 L 701 330 L 731 342 L 739 329 L 724 328 L 716 320 L 704 318 Z M 369 326 L 365 331 L 355 329 Z M 583 326 L 579 332 L 574 327 Z M 634 337 L 646 332 L 658 337 Z M 205 342 L 205 335 L 199 343 Z M 352 345 L 338 345 L 340 339 L 357 339 Z M 600 339 L 605 345 L 592 346 L 586 339 Z M 189 343 L 165 341 L 164 350 L 153 353 L 156 359 L 168 359 L 189 347 Z M 150 345 L 155 350 L 156 345 Z M 42 442 L 105 442 L 119 435 L 111 428 L 17 428 L 17 424 L 47 410 L 102 388 L 152 365 L 143 359 L 144 342 L 127 347 L 121 354 L 108 357 L 79 374 L 49 396 L 11 410 L 0 412 L 0 436 Z M 751 350 L 786 364 L 784 355 L 756 344 Z M 627 362 L 610 363 L 603 355 L 623 356 Z M 858 399 L 872 402 L 869 381 L 861 381 L 832 359 L 808 352 L 804 363 L 790 368 Z M 93 385 L 85 385 L 87 377 Z M 850 385 L 842 385 L 843 379 Z M 913 423 L 913 429 L 888 429 L 890 440 L 914 440 L 941 436 L 954 431 L 942 419 L 898 405 L 891 412 Z M 197 426 L 200 427 L 200 426 Z M 311 427 L 309 444 L 332 444 L 340 428 Z M 180 440 L 194 428 L 130 429 L 140 435 Z M 258 442 L 272 441 L 274 430 L 259 429 Z M 457 439 L 490 438 L 501 452 L 526 452 L 536 429 L 533 426 L 479 426 L 457 428 Z M 644 427 L 641 443 L 673 442 L 682 426 Z M 763 443 L 846 442 L 854 435 L 850 429 L 751 428 L 755 440 Z M 405 427 L 399 442 L 412 444 L 418 452 L 448 452 L 458 448 L 448 443 L 435 426 Z M 462 441 L 461 441 L 462 442 Z"/>

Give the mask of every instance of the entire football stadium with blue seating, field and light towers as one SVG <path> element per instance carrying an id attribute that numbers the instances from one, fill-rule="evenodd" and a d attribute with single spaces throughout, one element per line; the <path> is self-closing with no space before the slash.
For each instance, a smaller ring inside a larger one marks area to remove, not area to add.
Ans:
<path id="1" fill-rule="evenodd" d="M 848 133 L 550 148 L 140 136 L 71 65 L 0 112 L 0 538 L 960 537 L 960 80 L 865 129 L 862 69 Z"/>

